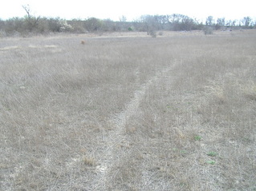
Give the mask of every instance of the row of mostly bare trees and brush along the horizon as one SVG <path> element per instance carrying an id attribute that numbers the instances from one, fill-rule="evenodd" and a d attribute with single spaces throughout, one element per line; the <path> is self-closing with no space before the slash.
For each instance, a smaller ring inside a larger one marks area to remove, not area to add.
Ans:
<path id="1" fill-rule="evenodd" d="M 190 18 L 183 14 L 170 15 L 142 15 L 132 22 L 127 22 L 125 16 L 120 21 L 110 19 L 86 18 L 65 20 L 62 18 L 36 17 L 30 14 L 29 6 L 23 6 L 26 16 L 23 18 L 0 19 L 0 37 L 14 35 L 33 35 L 51 33 L 99 33 L 115 31 L 144 31 L 154 37 L 159 30 L 226 30 L 227 28 L 256 28 L 256 21 L 250 17 L 241 20 L 226 20 L 226 18 L 213 18 L 209 16 L 205 23 L 197 18 Z"/>

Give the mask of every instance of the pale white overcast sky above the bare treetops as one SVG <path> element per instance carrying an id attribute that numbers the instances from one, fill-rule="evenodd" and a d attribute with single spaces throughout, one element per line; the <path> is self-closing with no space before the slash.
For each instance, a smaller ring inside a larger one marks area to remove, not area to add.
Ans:
<path id="1" fill-rule="evenodd" d="M 2 0 L 0 18 L 23 17 L 22 5 L 30 5 L 35 16 L 59 18 L 110 18 L 118 21 L 124 15 L 128 21 L 143 14 L 185 14 L 204 20 L 213 18 L 256 19 L 255 0 Z"/>

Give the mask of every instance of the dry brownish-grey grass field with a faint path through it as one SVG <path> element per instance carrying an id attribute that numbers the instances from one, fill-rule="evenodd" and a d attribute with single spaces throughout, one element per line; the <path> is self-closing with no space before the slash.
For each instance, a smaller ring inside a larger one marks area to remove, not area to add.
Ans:
<path id="1" fill-rule="evenodd" d="M 0 189 L 255 191 L 255 42 L 0 39 Z"/>

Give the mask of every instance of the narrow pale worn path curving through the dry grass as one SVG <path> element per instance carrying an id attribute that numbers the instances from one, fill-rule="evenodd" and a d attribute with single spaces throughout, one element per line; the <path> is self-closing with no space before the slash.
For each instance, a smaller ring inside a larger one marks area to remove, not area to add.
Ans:
<path id="1" fill-rule="evenodd" d="M 99 173 L 99 179 L 95 184 L 95 188 L 92 190 L 108 190 L 110 171 L 127 153 L 120 152 L 118 145 L 120 143 L 125 144 L 127 139 L 125 134 L 125 125 L 129 121 L 129 118 L 136 115 L 139 108 L 140 101 L 144 98 L 145 92 L 149 86 L 156 83 L 158 79 L 165 76 L 170 70 L 172 70 L 174 63 L 171 66 L 164 68 L 156 73 L 156 75 L 150 78 L 147 82 L 142 84 L 138 90 L 134 92 L 134 97 L 126 105 L 124 111 L 117 113 L 110 119 L 110 123 L 114 126 L 111 135 L 105 140 L 105 150 L 101 158 L 100 165 L 97 166 L 97 173 Z M 140 74 L 137 73 L 139 78 Z"/>

